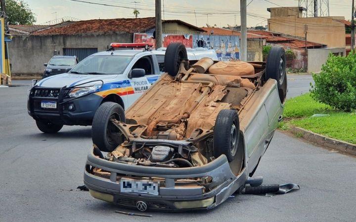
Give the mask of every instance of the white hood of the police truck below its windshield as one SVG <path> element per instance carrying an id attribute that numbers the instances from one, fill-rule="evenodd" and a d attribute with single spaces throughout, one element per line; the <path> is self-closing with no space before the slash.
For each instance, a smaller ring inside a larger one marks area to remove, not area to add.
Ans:
<path id="1" fill-rule="evenodd" d="M 118 75 L 89 75 L 89 74 L 58 74 L 39 81 L 36 86 L 61 88 L 74 86 L 89 81 L 102 80 L 104 83 L 115 79 Z"/>

